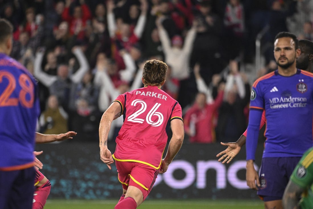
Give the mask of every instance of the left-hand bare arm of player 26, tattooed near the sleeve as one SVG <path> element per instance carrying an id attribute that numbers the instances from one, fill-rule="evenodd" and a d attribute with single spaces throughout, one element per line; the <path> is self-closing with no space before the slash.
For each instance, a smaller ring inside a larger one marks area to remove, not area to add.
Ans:
<path id="1" fill-rule="evenodd" d="M 111 128 L 111 123 L 122 114 L 121 105 L 119 102 L 113 102 L 110 107 L 103 113 L 99 125 L 99 147 L 100 159 L 111 170 L 111 165 L 114 161 L 112 154 L 108 149 L 108 135 Z"/>

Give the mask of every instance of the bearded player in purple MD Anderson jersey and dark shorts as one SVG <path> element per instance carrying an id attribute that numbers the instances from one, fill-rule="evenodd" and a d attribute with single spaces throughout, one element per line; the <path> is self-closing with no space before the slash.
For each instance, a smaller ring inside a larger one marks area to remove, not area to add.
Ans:
<path id="1" fill-rule="evenodd" d="M 258 190 L 265 208 L 282 208 L 289 177 L 313 144 L 313 74 L 296 68 L 300 53 L 294 34 L 277 34 L 274 56 L 278 70 L 257 79 L 251 91 L 246 179 L 250 188 Z M 263 110 L 267 126 L 259 176 L 253 162 Z"/>

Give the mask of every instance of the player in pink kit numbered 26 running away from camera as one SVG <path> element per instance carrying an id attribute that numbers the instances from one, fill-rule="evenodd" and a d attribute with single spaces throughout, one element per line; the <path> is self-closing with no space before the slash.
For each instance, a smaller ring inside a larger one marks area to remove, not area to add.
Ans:
<path id="1" fill-rule="evenodd" d="M 184 128 L 182 108 L 176 100 L 161 90 L 167 65 L 159 60 L 148 60 L 142 72 L 143 88 L 118 96 L 103 113 L 100 126 L 100 159 L 111 169 L 115 159 L 118 180 L 123 195 L 115 209 L 133 209 L 148 196 L 158 173 L 167 171 L 169 164 L 182 146 Z M 107 146 L 111 122 L 123 115 L 124 123 L 116 137 L 112 155 Z M 167 131 L 172 138 L 167 154 Z"/>

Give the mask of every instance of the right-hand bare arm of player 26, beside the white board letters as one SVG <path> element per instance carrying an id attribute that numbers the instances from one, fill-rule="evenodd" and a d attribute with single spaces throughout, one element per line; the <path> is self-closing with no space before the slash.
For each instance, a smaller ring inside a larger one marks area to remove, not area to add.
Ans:
<path id="1" fill-rule="evenodd" d="M 167 171 L 168 165 L 172 162 L 179 149 L 182 147 L 184 140 L 184 124 L 180 119 L 174 119 L 171 121 L 171 129 L 173 132 L 170 144 L 168 145 L 167 153 L 165 158 L 162 159 L 160 173 Z"/>

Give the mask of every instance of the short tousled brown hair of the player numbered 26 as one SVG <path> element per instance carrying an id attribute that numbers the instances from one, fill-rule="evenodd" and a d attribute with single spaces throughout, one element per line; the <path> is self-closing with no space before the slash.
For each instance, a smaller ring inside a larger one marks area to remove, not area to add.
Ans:
<path id="1" fill-rule="evenodd" d="M 142 77 L 145 81 L 145 86 L 158 86 L 165 81 L 167 64 L 160 60 L 148 60 L 146 61 Z"/>

